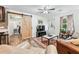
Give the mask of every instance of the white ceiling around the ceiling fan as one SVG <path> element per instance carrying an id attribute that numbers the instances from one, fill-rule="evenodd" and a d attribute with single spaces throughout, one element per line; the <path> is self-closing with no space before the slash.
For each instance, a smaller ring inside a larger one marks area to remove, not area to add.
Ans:
<path id="1" fill-rule="evenodd" d="M 38 11 L 38 9 L 42 9 L 44 6 L 45 5 L 5 5 L 6 8 L 11 10 L 31 13 L 36 15 L 45 15 L 45 14 L 40 14 Z M 79 9 L 79 5 L 48 5 L 48 6 L 49 6 L 48 8 L 55 8 L 55 10 L 49 11 L 51 15 Z"/>

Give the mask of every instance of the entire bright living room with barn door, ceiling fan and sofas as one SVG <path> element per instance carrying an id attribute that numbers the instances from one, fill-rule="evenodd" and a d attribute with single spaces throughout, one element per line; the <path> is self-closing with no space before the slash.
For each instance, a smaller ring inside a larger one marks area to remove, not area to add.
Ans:
<path id="1" fill-rule="evenodd" d="M 79 5 L 3 5 L 0 10 L 0 53 L 79 53 Z"/>

